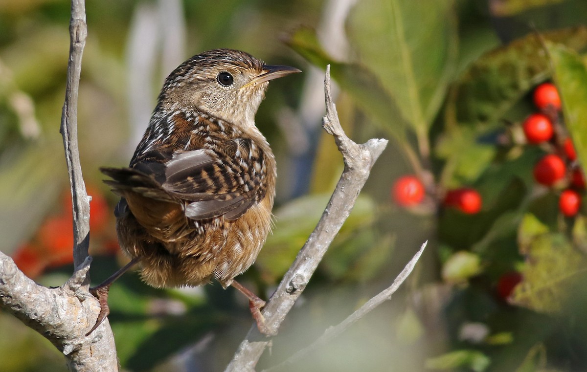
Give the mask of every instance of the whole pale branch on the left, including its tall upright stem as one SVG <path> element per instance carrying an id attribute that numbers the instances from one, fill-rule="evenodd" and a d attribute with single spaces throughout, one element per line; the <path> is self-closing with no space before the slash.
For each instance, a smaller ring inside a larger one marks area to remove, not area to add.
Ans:
<path id="1" fill-rule="evenodd" d="M 92 258 L 89 246 L 90 198 L 82 178 L 77 146 L 77 95 L 86 42 L 86 11 L 83 0 L 72 0 L 68 75 L 60 132 L 73 198 L 74 273 L 63 286 L 37 285 L 0 252 L 0 308 L 14 314 L 26 326 L 41 333 L 66 357 L 70 371 L 117 371 L 114 336 L 103 322 L 91 337 L 85 333 L 96 320 L 97 300 L 87 291 L 87 272 Z"/>

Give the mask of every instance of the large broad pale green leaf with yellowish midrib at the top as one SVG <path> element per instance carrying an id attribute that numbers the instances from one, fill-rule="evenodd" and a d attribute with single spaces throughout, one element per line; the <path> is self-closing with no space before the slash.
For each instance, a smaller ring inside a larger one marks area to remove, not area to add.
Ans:
<path id="1" fill-rule="evenodd" d="M 360 61 L 390 92 L 416 133 L 426 134 L 457 64 L 454 2 L 363 0 L 349 14 Z"/>

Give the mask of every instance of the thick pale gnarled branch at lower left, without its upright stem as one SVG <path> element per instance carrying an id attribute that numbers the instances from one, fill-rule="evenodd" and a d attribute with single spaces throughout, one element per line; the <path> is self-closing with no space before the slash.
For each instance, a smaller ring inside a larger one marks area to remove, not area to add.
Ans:
<path id="1" fill-rule="evenodd" d="M 117 371 L 112 332 L 85 336 L 97 313 L 95 302 L 86 301 L 91 295 L 82 286 L 90 262 L 92 258 L 87 257 L 59 288 L 46 288 L 0 252 L 0 307 L 51 341 L 66 357 L 70 371 Z"/>

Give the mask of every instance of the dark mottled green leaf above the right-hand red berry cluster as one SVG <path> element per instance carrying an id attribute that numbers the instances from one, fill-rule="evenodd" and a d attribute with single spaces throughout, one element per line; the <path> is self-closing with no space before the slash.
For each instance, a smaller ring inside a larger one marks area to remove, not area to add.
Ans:
<path id="1" fill-rule="evenodd" d="M 542 35 L 573 50 L 587 46 L 587 28 L 564 29 Z M 533 86 L 550 75 L 548 60 L 537 35 L 528 35 L 489 52 L 473 63 L 448 97 L 448 124 L 468 124 L 478 131 L 497 127 L 511 107 Z"/>

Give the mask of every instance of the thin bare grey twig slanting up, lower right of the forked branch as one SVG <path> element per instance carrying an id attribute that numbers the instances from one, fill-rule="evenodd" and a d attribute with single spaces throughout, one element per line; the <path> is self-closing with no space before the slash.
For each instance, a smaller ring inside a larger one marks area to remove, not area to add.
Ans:
<path id="1" fill-rule="evenodd" d="M 281 370 L 287 364 L 292 364 L 295 361 L 300 360 L 303 356 L 310 353 L 311 351 L 315 351 L 319 347 L 326 344 L 328 341 L 334 339 L 340 333 L 343 333 L 348 327 L 350 327 L 353 323 L 357 322 L 357 320 L 364 317 L 366 314 L 370 313 L 374 310 L 377 306 L 381 305 L 383 302 L 392 298 L 393 293 L 396 292 L 397 289 L 400 288 L 400 285 L 406 280 L 406 278 L 410 275 L 411 270 L 414 269 L 416 263 L 420 259 L 422 252 L 424 252 L 424 248 L 428 241 L 424 242 L 420 246 L 420 250 L 416 252 L 416 255 L 407 263 L 407 265 L 403 268 L 402 272 L 397 275 L 397 278 L 393 280 L 392 285 L 384 289 L 378 295 L 372 297 L 369 301 L 365 303 L 365 305 L 359 307 L 354 313 L 350 314 L 345 320 L 337 324 L 336 326 L 332 326 L 327 329 L 322 336 L 318 337 L 313 343 L 309 344 L 308 346 L 304 347 L 302 350 L 299 350 L 297 353 L 289 357 L 287 360 L 283 361 L 282 363 L 276 364 L 275 366 L 264 370 L 263 372 L 271 372 L 271 371 L 278 371 Z"/>

